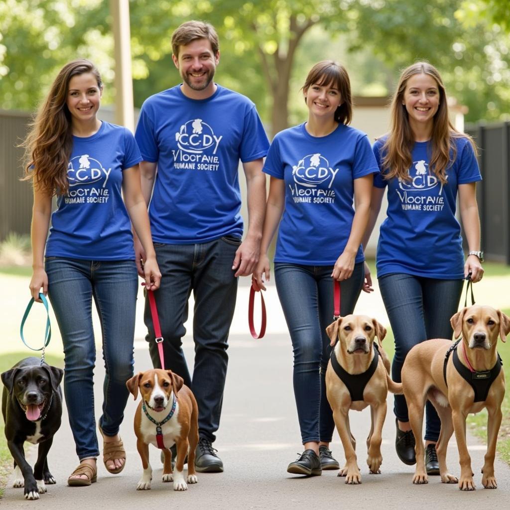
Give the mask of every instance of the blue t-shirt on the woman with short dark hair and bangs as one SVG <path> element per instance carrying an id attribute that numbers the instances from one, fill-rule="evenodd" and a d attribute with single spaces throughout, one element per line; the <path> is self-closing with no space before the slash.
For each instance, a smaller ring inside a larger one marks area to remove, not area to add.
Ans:
<path id="1" fill-rule="evenodd" d="M 344 124 L 323 137 L 290 127 L 274 137 L 264 172 L 285 180 L 274 261 L 334 265 L 351 232 L 354 179 L 379 172 L 367 135 Z"/>

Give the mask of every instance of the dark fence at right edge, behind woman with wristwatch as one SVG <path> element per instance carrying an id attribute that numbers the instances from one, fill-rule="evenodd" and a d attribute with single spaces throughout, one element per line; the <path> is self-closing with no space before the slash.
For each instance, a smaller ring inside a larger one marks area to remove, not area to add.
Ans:
<path id="1" fill-rule="evenodd" d="M 466 133 L 480 149 L 482 249 L 487 259 L 510 264 L 510 122 L 472 125 Z"/>

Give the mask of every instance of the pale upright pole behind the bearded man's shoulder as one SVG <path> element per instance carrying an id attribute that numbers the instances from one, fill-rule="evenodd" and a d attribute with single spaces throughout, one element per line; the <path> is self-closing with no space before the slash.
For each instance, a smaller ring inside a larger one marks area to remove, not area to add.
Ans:
<path id="1" fill-rule="evenodd" d="M 115 41 L 115 122 L 134 131 L 129 0 L 110 0 Z"/>

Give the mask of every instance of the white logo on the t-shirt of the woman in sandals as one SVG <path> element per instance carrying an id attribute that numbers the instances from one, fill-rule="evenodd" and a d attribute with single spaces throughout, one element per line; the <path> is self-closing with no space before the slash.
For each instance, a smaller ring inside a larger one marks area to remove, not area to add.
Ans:
<path id="1" fill-rule="evenodd" d="M 111 171 L 88 154 L 72 158 L 67 165 L 69 192 L 64 197 L 65 203 L 107 202 L 109 192 L 106 185 Z"/>

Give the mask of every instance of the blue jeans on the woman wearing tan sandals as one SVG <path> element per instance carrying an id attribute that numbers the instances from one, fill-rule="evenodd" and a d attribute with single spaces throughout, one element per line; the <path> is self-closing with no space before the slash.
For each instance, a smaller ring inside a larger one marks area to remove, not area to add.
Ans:
<path id="1" fill-rule="evenodd" d="M 93 370 L 96 351 L 92 298 L 103 333 L 103 415 L 105 435 L 115 436 L 129 396 L 133 375 L 138 275 L 135 261 L 90 261 L 48 257 L 48 296 L 64 344 L 64 392 L 69 424 L 80 460 L 97 457 Z"/>

